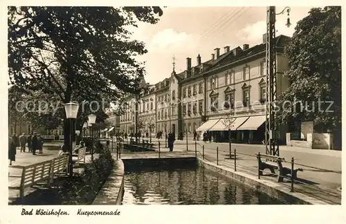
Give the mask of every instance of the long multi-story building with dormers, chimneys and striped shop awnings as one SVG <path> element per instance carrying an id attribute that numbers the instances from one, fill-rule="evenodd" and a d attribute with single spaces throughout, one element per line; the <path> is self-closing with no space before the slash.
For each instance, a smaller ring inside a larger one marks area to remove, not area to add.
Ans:
<path id="1" fill-rule="evenodd" d="M 170 78 L 154 84 L 154 90 L 141 97 L 145 102 L 153 99 L 156 115 L 149 112 L 151 109 L 145 115 L 154 120 L 155 131 L 184 136 L 187 132 L 189 138 L 194 131 L 208 131 L 215 140 L 227 140 L 231 133 L 237 142 L 261 142 L 266 120 L 265 35 L 263 40 L 253 47 L 244 44 L 231 50 L 226 46 L 224 53 L 215 48 L 206 62 L 198 55 L 195 66 L 188 57 L 185 71 L 176 74 L 173 69 Z M 283 35 L 276 39 L 277 95 L 289 86 L 289 80 L 283 76 L 288 68 L 283 55 L 287 41 L 289 37 Z M 134 102 L 134 97 L 129 100 Z M 129 122 L 134 120 L 122 119 L 120 129 L 129 132 Z M 286 127 L 280 127 L 279 132 L 278 137 L 284 142 Z"/>

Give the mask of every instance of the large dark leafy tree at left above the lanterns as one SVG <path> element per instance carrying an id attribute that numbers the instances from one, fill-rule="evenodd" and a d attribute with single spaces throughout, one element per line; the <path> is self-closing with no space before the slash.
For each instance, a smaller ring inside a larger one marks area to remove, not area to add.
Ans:
<path id="1" fill-rule="evenodd" d="M 156 24 L 159 7 L 15 7 L 8 8 L 8 71 L 11 84 L 42 91 L 62 104 L 119 99 L 138 91 L 144 75 L 136 55 L 143 42 L 129 40 L 127 26 Z M 63 105 L 61 105 L 63 108 Z M 102 113 L 102 112 L 100 112 Z M 83 120 L 87 113 L 80 111 Z M 69 122 L 64 140 L 69 144 Z M 82 122 L 80 122 L 82 124 Z"/>

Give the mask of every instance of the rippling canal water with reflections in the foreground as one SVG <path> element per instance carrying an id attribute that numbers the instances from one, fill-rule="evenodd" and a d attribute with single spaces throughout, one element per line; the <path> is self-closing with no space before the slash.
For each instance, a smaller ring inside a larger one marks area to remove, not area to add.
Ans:
<path id="1" fill-rule="evenodd" d="M 123 205 L 284 204 L 203 168 L 127 173 L 124 190 Z"/>

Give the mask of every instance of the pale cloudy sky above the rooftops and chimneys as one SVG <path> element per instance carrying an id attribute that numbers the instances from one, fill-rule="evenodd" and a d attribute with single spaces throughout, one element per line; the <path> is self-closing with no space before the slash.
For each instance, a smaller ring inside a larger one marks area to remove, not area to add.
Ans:
<path id="1" fill-rule="evenodd" d="M 276 35 L 293 35 L 295 25 L 306 17 L 312 7 L 291 7 L 287 28 L 287 13 L 276 16 Z M 284 7 L 277 6 L 279 13 Z M 163 16 L 157 24 L 139 23 L 131 28 L 131 38 L 145 42 L 148 53 L 139 56 L 145 62 L 145 81 L 155 84 L 170 77 L 173 55 L 176 58 L 176 73 L 185 71 L 186 58 L 192 58 L 192 66 L 197 64 L 197 55 L 202 62 L 211 58 L 215 48 L 230 49 L 243 44 L 249 47 L 262 44 L 266 33 L 266 7 L 194 7 L 163 8 Z"/>

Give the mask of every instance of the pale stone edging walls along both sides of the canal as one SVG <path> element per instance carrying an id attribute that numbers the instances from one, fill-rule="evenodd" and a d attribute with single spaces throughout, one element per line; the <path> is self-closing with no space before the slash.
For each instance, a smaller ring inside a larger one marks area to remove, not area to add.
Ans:
<path id="1" fill-rule="evenodd" d="M 157 159 L 160 160 L 159 158 Z M 162 159 L 167 160 L 167 158 Z M 146 160 L 146 158 L 143 158 L 143 160 Z M 282 187 L 282 185 L 279 185 L 278 183 L 257 179 L 255 176 L 245 174 L 242 171 L 234 171 L 227 167 L 217 166 L 212 162 L 201 160 L 199 158 L 197 158 L 197 162 L 199 166 L 204 167 L 205 169 L 215 171 L 218 174 L 236 180 L 237 182 L 251 187 L 256 191 L 268 194 L 269 196 L 278 198 L 279 200 L 294 201 L 295 204 L 301 205 L 329 205 L 322 200 L 298 192 L 290 192 L 288 188 Z M 102 186 L 102 189 L 100 189 L 98 196 L 96 196 L 93 201 L 93 205 L 121 205 L 122 196 L 124 194 L 124 178 L 124 162 L 122 162 L 122 160 L 114 160 L 113 170 Z"/>

